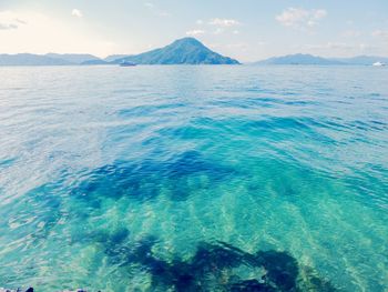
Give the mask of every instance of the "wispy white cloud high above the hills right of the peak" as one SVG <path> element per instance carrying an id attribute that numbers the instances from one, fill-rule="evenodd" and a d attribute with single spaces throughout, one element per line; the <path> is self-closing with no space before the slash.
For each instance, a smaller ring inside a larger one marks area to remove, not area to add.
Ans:
<path id="1" fill-rule="evenodd" d="M 326 16 L 327 11 L 325 9 L 306 10 L 303 8 L 288 8 L 276 16 L 275 19 L 285 27 L 312 28 Z"/>

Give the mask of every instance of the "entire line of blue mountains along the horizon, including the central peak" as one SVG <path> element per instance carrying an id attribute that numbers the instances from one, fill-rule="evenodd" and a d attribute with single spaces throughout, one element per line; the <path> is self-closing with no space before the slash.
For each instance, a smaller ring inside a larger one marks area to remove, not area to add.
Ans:
<path id="1" fill-rule="evenodd" d="M 183 38 L 164 48 L 140 54 L 112 54 L 105 59 L 85 53 L 0 54 L 0 66 L 95 66 L 120 64 L 122 62 L 135 64 L 239 64 L 237 60 L 212 51 L 194 38 Z M 297 53 L 274 57 L 253 64 L 371 66 L 375 62 L 388 64 L 388 58 L 375 56 L 323 58 Z"/>

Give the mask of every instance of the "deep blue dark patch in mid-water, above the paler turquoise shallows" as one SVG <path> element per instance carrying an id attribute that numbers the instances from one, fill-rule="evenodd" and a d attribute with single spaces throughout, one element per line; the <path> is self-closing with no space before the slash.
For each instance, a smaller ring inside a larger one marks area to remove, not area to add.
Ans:
<path id="1" fill-rule="evenodd" d="M 79 179 L 71 195 L 86 200 L 89 207 L 99 208 L 106 198 L 152 200 L 164 187 L 167 188 L 171 200 L 184 201 L 190 197 L 190 178 L 204 174 L 212 184 L 216 184 L 234 173 L 234 169 L 208 161 L 197 151 L 186 151 L 167 161 L 116 162 L 94 169 Z M 200 188 L 207 187 L 197 185 L 196 189 Z"/>

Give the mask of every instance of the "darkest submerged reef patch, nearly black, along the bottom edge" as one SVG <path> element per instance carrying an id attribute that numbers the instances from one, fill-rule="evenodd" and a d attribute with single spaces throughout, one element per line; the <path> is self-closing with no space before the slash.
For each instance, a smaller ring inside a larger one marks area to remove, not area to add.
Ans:
<path id="1" fill-rule="evenodd" d="M 145 270 L 151 291 L 336 291 L 284 251 L 248 253 L 225 242 L 203 242 L 190 260 L 166 261 L 154 254 L 153 236 L 130 246 L 122 242 L 108 239 L 104 252 L 112 264 Z"/>

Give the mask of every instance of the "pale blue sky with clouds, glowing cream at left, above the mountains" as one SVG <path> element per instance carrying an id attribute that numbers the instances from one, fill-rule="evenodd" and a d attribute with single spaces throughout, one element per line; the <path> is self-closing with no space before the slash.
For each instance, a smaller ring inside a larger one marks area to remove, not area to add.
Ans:
<path id="1" fill-rule="evenodd" d="M 132 54 L 184 37 L 241 61 L 388 57 L 388 0 L 0 0 L 0 53 Z"/>

